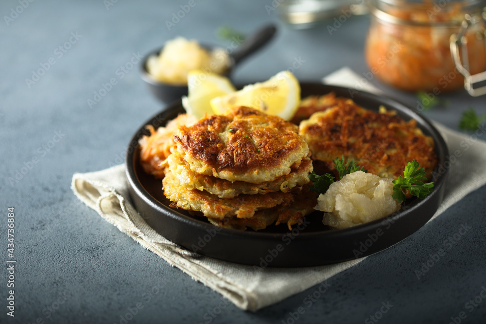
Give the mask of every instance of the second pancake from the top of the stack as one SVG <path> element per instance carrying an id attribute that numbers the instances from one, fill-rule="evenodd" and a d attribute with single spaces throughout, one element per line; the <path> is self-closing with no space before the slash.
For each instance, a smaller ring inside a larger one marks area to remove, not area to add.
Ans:
<path id="1" fill-rule="evenodd" d="M 243 181 L 227 181 L 212 175 L 199 174 L 191 171 L 189 164 L 178 152 L 172 153 L 168 159 L 170 171 L 187 189 L 206 190 L 219 198 L 234 198 L 240 194 L 266 194 L 268 192 L 288 192 L 296 186 L 303 186 L 309 182 L 308 174 L 312 172 L 312 161 L 306 157 L 300 165 L 291 168 L 291 172 L 273 181 L 254 184 Z"/>

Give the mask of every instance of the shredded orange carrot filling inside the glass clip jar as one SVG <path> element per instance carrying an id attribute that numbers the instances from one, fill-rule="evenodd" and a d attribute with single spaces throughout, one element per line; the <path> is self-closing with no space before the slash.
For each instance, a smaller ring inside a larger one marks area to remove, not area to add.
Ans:
<path id="1" fill-rule="evenodd" d="M 420 8 L 391 8 L 392 16 L 414 22 L 461 22 L 465 13 L 460 3 L 434 8 L 427 1 Z M 455 69 L 451 58 L 450 37 L 459 27 L 394 25 L 372 20 L 365 46 L 365 58 L 373 74 L 383 82 L 407 91 L 447 92 L 463 87 L 464 78 Z M 484 39 L 477 34 L 483 24 L 469 27 L 467 38 L 469 71 L 471 74 L 486 68 Z"/>

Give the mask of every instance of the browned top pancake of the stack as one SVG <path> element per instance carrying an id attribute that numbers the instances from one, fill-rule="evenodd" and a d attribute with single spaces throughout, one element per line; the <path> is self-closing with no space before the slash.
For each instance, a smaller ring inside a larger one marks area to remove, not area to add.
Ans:
<path id="1" fill-rule="evenodd" d="M 248 107 L 182 126 L 174 141 L 192 171 L 251 183 L 288 174 L 309 153 L 298 127 Z"/>

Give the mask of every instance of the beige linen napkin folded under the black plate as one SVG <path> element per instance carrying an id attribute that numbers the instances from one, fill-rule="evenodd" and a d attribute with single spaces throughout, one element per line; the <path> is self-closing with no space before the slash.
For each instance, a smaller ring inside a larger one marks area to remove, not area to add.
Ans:
<path id="1" fill-rule="evenodd" d="M 356 86 L 359 77 L 344 68 L 325 81 Z M 365 90 L 374 89 L 368 87 Z M 485 129 L 468 136 L 438 124 L 436 127 L 449 146 L 451 163 L 448 166 L 450 175 L 445 184 L 444 202 L 434 217 L 469 192 L 486 184 L 486 142 L 477 139 L 484 135 Z M 81 201 L 117 226 L 121 232 L 242 309 L 255 311 L 277 303 L 364 260 L 361 258 L 320 267 L 265 268 L 256 271 L 251 266 L 196 255 L 163 238 L 147 225 L 129 200 L 123 165 L 97 172 L 76 173 L 72 177 L 72 190 Z"/>

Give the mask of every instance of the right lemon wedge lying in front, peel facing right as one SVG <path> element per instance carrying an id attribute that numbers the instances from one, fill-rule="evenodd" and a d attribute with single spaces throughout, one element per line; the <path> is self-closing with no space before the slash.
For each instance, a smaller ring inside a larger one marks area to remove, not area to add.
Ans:
<path id="1" fill-rule="evenodd" d="M 294 74 L 282 71 L 265 82 L 246 85 L 239 91 L 215 97 L 210 104 L 218 115 L 236 106 L 248 106 L 290 120 L 300 104 L 300 85 Z"/>

